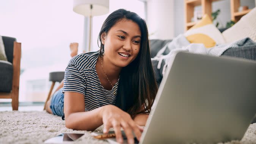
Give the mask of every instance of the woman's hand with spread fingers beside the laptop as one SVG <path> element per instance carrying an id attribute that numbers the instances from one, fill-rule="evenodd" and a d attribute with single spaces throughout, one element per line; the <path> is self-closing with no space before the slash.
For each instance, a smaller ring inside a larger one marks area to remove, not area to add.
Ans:
<path id="1" fill-rule="evenodd" d="M 113 127 L 116 134 L 117 142 L 123 143 L 121 127 L 124 129 L 124 132 L 126 133 L 126 137 L 129 144 L 134 143 L 132 131 L 134 132 L 138 141 L 140 140 L 143 128 L 138 126 L 132 120 L 130 114 L 124 112 L 123 110 L 114 105 L 106 105 L 102 106 L 100 116 L 102 117 L 102 121 L 104 124 L 103 132 L 108 133 L 109 128 Z"/>

